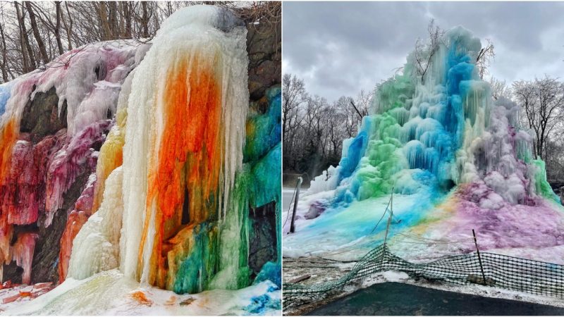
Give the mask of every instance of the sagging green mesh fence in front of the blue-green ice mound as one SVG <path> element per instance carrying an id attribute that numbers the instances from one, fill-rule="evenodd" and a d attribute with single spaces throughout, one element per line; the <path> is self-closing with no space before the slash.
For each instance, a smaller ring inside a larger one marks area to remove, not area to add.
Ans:
<path id="1" fill-rule="evenodd" d="M 410 263 L 392 254 L 386 244 L 381 244 L 369 251 L 349 273 L 337 280 L 317 285 L 285 283 L 284 306 L 297 306 L 323 298 L 327 293 L 340 289 L 351 280 L 390 270 L 405 272 L 412 278 L 460 285 L 489 285 L 506 290 L 564 298 L 564 266 L 501 254 L 480 253 L 480 256 L 483 274 L 475 253 L 449 256 L 430 263 Z"/>

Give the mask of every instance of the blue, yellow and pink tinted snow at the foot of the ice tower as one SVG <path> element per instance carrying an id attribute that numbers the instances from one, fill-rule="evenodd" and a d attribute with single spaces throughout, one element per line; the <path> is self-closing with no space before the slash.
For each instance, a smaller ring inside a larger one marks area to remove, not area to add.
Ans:
<path id="1" fill-rule="evenodd" d="M 288 209 L 283 210 L 283 256 L 321 256 L 351 261 L 360 259 L 384 242 L 388 220 L 384 210 L 390 201 L 389 195 L 353 201 L 344 209 L 323 211 L 333 196 L 334 191 L 300 195 L 296 229 L 291 234 L 288 234 L 291 210 L 290 215 Z M 550 213 L 546 208 L 520 208 L 519 205 L 519 208 L 468 216 L 458 210 L 455 197 L 447 196 L 437 205 L 427 204 L 421 208 L 421 201 L 426 200 L 424 194 L 393 195 L 394 218 L 387 240 L 393 254 L 412 262 L 428 262 L 442 256 L 474 252 L 472 228 L 476 228 L 480 251 L 564 264 L 564 244 L 558 237 L 564 217 L 558 215 L 562 207 L 556 203 L 543 202 L 551 204 L 554 211 L 551 209 Z M 312 217 L 319 210 L 321 214 Z M 537 216 L 527 216 L 527 212 L 536 212 Z M 557 218 L 557 221 L 539 224 L 545 216 Z M 493 217 L 489 223 L 488 217 Z M 527 217 L 538 219 L 533 222 Z M 519 228 L 522 230 L 518 231 Z"/>

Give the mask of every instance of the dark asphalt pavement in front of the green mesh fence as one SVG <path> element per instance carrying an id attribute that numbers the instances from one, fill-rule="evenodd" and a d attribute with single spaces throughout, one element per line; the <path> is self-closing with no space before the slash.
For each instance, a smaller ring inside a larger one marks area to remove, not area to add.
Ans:
<path id="1" fill-rule="evenodd" d="M 358 290 L 307 315 L 562 316 L 564 308 L 385 282 Z"/>

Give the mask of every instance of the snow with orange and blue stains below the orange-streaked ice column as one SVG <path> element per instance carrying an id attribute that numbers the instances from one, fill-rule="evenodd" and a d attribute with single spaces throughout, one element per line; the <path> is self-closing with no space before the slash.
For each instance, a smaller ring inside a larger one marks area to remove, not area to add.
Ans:
<path id="1" fill-rule="evenodd" d="M 3 315 L 280 315 L 281 291 L 271 282 L 242 290 L 175 294 L 140 287 L 117 270 L 68 279 L 36 299 L 0 304 Z"/>

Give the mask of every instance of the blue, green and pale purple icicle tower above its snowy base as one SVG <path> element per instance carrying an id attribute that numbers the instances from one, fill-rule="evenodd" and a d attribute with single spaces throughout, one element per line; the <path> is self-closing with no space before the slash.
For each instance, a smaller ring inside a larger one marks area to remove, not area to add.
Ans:
<path id="1" fill-rule="evenodd" d="M 377 90 L 375 114 L 343 142 L 341 163 L 326 172 L 333 186 L 317 178 L 311 192 L 347 185 L 338 200 L 350 202 L 389 194 L 392 187 L 413 194 L 483 180 L 513 204 L 541 194 L 530 137 L 514 126 L 517 107 L 508 100 L 491 104 L 489 85 L 479 80 L 474 61 L 480 49 L 467 30 L 450 30 L 423 80 L 414 75 L 410 55 L 403 74 Z"/>

